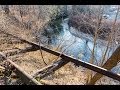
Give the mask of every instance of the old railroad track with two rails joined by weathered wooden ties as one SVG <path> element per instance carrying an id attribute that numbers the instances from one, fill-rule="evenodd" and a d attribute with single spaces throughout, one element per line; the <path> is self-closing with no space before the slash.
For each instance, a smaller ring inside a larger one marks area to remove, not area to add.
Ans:
<path id="1" fill-rule="evenodd" d="M 118 80 L 120 81 L 120 75 L 118 74 L 115 74 L 107 69 L 104 69 L 104 68 L 101 68 L 101 67 L 98 67 L 96 65 L 93 65 L 93 64 L 90 64 L 90 63 L 87 63 L 87 62 L 84 62 L 82 60 L 77 60 L 75 58 L 72 58 L 70 56 L 67 56 L 65 54 L 62 54 L 60 52 L 56 52 L 56 51 L 53 51 L 51 49 L 48 49 L 48 48 L 45 48 L 43 46 L 40 46 L 39 44 L 37 43 L 34 43 L 34 42 L 30 42 L 28 40 L 25 40 L 23 38 L 20 38 L 20 37 L 17 37 L 17 36 L 14 36 L 10 33 L 7 33 L 5 31 L 0 31 L 1 33 L 4 33 L 4 34 L 7 34 L 9 36 L 12 36 L 14 38 L 17 38 L 19 40 L 21 40 L 22 42 L 24 43 L 27 43 L 29 45 L 31 45 L 31 47 L 27 47 L 25 49 L 22 49 L 22 50 L 15 50 L 15 51 L 11 51 L 11 52 L 7 52 L 7 53 L 3 53 L 1 54 L 1 56 L 3 57 L 3 59 L 8 62 L 12 68 L 14 68 L 14 72 L 21 78 L 21 80 L 27 84 L 27 85 L 47 85 L 45 84 L 44 82 L 38 82 L 35 78 L 36 76 L 39 76 L 40 79 L 50 75 L 51 73 L 55 72 L 56 70 L 58 70 L 59 68 L 63 67 L 64 65 L 66 65 L 68 62 L 72 62 L 72 63 L 75 63 L 77 65 L 81 65 L 87 69 L 90 69 L 92 71 L 95 71 L 95 72 L 98 72 L 102 75 L 105 75 L 105 76 L 108 76 L 110 78 L 113 78 L 115 80 Z M 32 52 L 32 51 L 36 51 L 36 50 L 39 50 L 39 49 L 42 49 L 48 53 L 51 53 L 53 55 L 56 55 L 56 56 L 59 56 L 61 59 L 58 59 L 57 61 L 53 62 L 52 64 L 50 65 L 47 65 L 46 67 L 36 71 L 33 75 L 29 75 L 28 73 L 26 73 L 21 67 L 19 67 L 17 64 L 15 64 L 12 60 L 8 59 L 9 56 L 14 56 L 16 54 L 19 54 L 19 53 L 26 53 L 26 52 Z M 14 52 L 17 52 L 17 53 L 14 53 Z M 9 53 L 12 53 L 12 54 L 9 54 Z"/>

